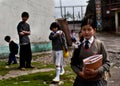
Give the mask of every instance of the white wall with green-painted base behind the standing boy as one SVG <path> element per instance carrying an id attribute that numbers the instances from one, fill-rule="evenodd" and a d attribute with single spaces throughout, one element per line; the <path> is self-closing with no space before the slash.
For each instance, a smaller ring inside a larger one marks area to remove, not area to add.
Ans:
<path id="1" fill-rule="evenodd" d="M 8 44 L 4 41 L 5 35 L 10 35 L 19 43 L 16 27 L 23 11 L 30 14 L 28 23 L 32 48 L 37 47 L 35 44 L 50 45 L 48 35 L 49 26 L 54 21 L 54 0 L 0 0 L 0 56 L 9 52 Z"/>

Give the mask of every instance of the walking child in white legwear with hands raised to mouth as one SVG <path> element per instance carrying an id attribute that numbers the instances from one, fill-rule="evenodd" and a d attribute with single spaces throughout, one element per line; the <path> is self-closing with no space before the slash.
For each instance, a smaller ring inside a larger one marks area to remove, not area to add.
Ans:
<path id="1" fill-rule="evenodd" d="M 64 58 L 63 58 L 63 47 L 67 51 L 67 43 L 65 34 L 60 30 L 58 23 L 53 22 L 50 25 L 51 33 L 49 39 L 52 41 L 53 59 L 56 66 L 56 77 L 53 79 L 54 82 L 60 81 L 60 75 L 65 73 L 64 70 Z"/>

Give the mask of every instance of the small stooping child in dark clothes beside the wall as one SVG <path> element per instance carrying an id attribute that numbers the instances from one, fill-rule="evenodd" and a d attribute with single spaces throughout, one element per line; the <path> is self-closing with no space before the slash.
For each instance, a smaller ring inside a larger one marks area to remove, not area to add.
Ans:
<path id="1" fill-rule="evenodd" d="M 18 53 L 18 45 L 11 40 L 10 36 L 5 36 L 4 40 L 9 43 L 9 59 L 8 62 L 6 63 L 7 65 L 10 65 L 11 63 L 17 64 L 17 60 L 15 55 Z"/>

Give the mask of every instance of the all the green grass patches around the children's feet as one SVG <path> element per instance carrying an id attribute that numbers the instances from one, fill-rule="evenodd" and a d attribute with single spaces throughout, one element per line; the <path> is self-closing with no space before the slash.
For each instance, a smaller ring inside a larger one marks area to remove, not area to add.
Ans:
<path id="1" fill-rule="evenodd" d="M 45 54 L 47 55 L 47 54 Z M 45 55 L 36 55 L 33 56 L 34 60 L 38 58 L 42 58 Z M 54 65 L 51 63 L 44 63 L 35 61 L 32 62 L 32 65 L 38 69 L 42 68 L 54 68 Z M 16 69 L 18 64 L 10 65 L 10 69 L 5 68 L 5 61 L 0 62 L 0 75 L 7 74 L 10 70 Z M 31 69 L 28 69 L 31 70 Z M 71 70 L 69 62 L 65 67 L 66 73 L 61 76 L 62 85 L 59 86 L 72 86 L 73 81 L 75 79 L 75 73 Z M 23 75 L 16 78 L 9 78 L 0 80 L 0 86 L 49 86 L 51 84 L 52 79 L 55 77 L 55 71 L 49 72 L 39 72 L 29 75 Z"/>

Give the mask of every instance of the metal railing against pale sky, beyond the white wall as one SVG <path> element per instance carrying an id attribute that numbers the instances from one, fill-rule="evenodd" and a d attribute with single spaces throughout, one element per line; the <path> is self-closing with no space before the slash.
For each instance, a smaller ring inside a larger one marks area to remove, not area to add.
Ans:
<path id="1" fill-rule="evenodd" d="M 67 21 L 80 21 L 83 19 L 86 5 L 55 7 L 55 18 L 66 18 Z"/>

